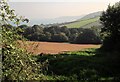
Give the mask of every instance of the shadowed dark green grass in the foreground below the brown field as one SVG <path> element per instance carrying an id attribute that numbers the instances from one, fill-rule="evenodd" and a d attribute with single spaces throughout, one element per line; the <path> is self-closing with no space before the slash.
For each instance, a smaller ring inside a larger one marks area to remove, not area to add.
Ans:
<path id="1" fill-rule="evenodd" d="M 112 54 L 112 55 L 111 55 Z M 119 80 L 119 53 L 102 53 L 87 49 L 65 54 L 36 56 L 37 62 L 47 60 L 45 75 L 53 80 Z"/>

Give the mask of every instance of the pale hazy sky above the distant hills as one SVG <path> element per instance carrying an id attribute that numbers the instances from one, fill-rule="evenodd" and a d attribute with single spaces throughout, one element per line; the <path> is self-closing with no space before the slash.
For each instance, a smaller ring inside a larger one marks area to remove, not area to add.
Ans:
<path id="1" fill-rule="evenodd" d="M 17 14 L 29 19 L 80 16 L 103 11 L 119 0 L 9 0 Z"/>

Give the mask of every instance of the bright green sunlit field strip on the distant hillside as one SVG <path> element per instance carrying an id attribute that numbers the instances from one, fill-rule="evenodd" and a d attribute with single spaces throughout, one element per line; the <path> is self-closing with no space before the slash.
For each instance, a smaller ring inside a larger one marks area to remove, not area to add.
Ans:
<path id="1" fill-rule="evenodd" d="M 83 27 L 85 25 L 89 25 L 91 23 L 94 23 L 94 22 L 96 22 L 98 20 L 99 20 L 99 17 L 96 17 L 96 18 L 91 18 L 91 19 L 86 19 L 86 20 L 80 20 L 78 22 L 66 24 L 65 26 L 67 26 L 68 28 L 79 28 L 79 27 Z"/>

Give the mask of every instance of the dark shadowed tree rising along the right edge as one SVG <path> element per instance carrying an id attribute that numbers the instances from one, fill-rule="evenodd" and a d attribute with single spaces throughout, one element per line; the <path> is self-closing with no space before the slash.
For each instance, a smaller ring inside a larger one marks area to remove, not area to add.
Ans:
<path id="1" fill-rule="evenodd" d="M 101 35 L 104 38 L 101 50 L 119 51 L 120 49 L 120 2 L 108 6 L 100 17 L 103 28 Z"/>

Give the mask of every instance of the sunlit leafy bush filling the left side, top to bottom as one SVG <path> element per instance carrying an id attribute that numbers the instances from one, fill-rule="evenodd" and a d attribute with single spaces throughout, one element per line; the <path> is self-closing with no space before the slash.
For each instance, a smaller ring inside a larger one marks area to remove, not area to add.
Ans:
<path id="1" fill-rule="evenodd" d="M 8 24 L 8 21 L 17 26 L 25 21 L 16 16 L 4 0 L 0 1 L 0 18 Z M 2 29 L 2 80 L 41 80 L 41 64 L 36 63 L 25 50 L 18 48 L 17 40 L 23 39 L 18 32 L 22 30 L 10 25 L 0 26 Z"/>

